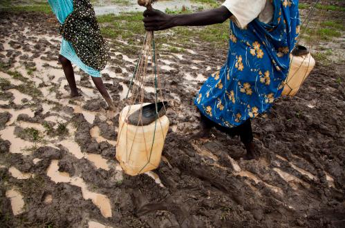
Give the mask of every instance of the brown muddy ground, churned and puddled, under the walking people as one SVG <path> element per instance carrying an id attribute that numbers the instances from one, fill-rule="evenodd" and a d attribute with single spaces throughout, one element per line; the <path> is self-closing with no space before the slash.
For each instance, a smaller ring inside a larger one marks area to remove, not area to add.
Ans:
<path id="1" fill-rule="evenodd" d="M 238 138 L 216 129 L 207 141 L 189 137 L 199 118 L 192 99 L 226 50 L 194 41 L 161 52 L 163 159 L 131 177 L 114 145 L 140 41 L 132 51 L 110 41 L 103 79 L 115 113 L 77 68 L 83 96 L 66 98 L 59 42 L 51 14 L 0 16 L 1 227 L 344 226 L 344 61 L 317 63 L 297 96 L 252 121 L 261 156 L 246 161 Z"/>

